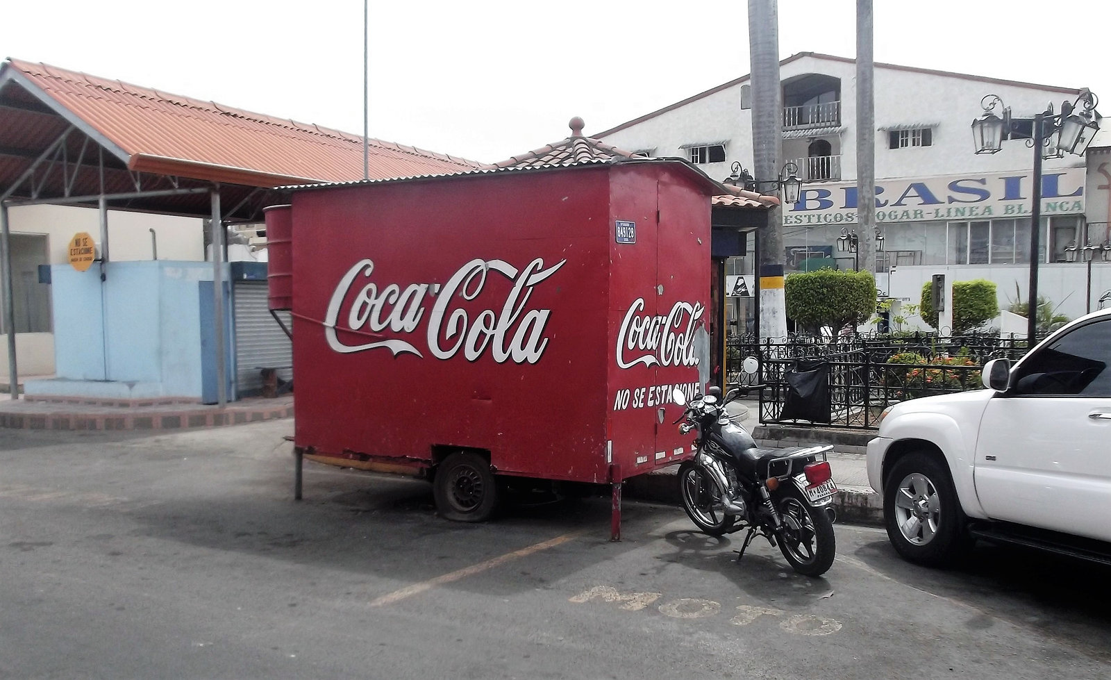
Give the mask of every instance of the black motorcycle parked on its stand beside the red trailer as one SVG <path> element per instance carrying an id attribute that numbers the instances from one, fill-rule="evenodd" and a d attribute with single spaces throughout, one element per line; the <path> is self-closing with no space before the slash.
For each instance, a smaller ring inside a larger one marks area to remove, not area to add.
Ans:
<path id="1" fill-rule="evenodd" d="M 795 571 L 820 576 L 833 564 L 837 550 L 831 506 L 837 486 L 827 459 L 833 447 L 757 448 L 725 404 L 760 387 L 730 390 L 724 399 L 712 387 L 689 403 L 681 390 L 672 393 L 672 401 L 683 407 L 675 421 L 682 421 L 679 431 L 693 430 L 698 437 L 694 458 L 679 468 L 683 509 L 710 536 L 748 529 L 738 560 L 762 536 L 779 544 Z"/>

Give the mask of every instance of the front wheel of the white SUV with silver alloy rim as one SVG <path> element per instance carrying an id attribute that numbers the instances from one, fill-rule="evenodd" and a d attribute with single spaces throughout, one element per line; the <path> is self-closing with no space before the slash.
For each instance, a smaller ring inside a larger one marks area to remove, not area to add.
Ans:
<path id="1" fill-rule="evenodd" d="M 947 564 L 965 547 L 967 520 L 949 470 L 924 452 L 910 453 L 891 469 L 883 519 L 891 544 L 911 562 Z"/>

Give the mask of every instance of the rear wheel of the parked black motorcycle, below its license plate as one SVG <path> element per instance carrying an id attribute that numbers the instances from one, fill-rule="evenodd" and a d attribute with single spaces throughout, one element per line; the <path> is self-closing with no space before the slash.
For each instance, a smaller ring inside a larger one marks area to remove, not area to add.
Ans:
<path id="1" fill-rule="evenodd" d="M 837 553 L 833 520 L 823 508 L 812 507 L 795 487 L 784 487 L 777 503 L 783 520 L 779 549 L 799 573 L 821 576 L 833 566 Z"/>

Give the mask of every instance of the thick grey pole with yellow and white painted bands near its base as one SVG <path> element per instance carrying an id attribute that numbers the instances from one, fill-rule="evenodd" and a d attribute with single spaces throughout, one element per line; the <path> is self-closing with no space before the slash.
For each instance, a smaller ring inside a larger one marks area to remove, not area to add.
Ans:
<path id="1" fill-rule="evenodd" d="M 749 56 L 752 64 L 752 172 L 760 182 L 779 179 L 783 147 L 783 94 L 779 82 L 777 0 L 749 0 Z M 758 184 L 762 189 L 768 184 Z M 783 297 L 783 212 L 768 214 L 760 239 L 760 339 L 787 338 Z"/>

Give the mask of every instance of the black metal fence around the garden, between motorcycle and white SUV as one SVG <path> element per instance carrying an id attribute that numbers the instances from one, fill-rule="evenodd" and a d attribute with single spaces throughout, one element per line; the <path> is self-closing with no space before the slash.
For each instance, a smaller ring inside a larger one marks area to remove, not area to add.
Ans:
<path id="1" fill-rule="evenodd" d="M 925 333 L 829 343 L 735 337 L 727 347 L 729 382 L 767 386 L 760 392 L 760 422 L 864 429 L 878 427 L 880 412 L 892 403 L 980 389 L 989 360 L 1019 359 L 1028 349 L 1024 338 Z M 757 374 L 741 370 L 747 357 L 759 360 Z"/>

